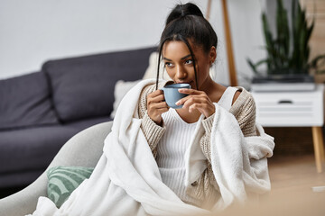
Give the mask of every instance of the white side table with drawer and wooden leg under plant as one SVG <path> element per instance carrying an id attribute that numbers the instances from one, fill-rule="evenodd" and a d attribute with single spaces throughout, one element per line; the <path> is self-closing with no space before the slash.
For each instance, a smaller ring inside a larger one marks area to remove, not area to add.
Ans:
<path id="1" fill-rule="evenodd" d="M 324 85 L 306 92 L 252 92 L 256 121 L 265 127 L 311 127 L 317 172 L 325 162 L 321 127 L 324 124 Z"/>

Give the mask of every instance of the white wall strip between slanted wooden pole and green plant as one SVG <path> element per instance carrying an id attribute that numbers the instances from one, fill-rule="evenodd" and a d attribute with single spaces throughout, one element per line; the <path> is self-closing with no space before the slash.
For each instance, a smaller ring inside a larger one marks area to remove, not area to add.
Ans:
<path id="1" fill-rule="evenodd" d="M 246 76 L 253 76 L 246 58 L 256 62 L 265 58 L 261 14 L 266 0 L 228 0 L 234 56 L 239 85 L 246 86 Z M 268 0 L 274 1 L 274 0 Z M 226 55 L 226 54 L 225 54 Z"/>

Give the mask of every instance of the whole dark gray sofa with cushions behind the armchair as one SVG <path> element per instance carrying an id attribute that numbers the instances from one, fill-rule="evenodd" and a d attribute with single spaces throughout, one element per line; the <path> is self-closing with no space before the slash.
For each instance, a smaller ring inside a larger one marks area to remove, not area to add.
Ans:
<path id="1" fill-rule="evenodd" d="M 50 60 L 0 80 L 0 190 L 31 184 L 73 135 L 110 121 L 116 81 L 141 79 L 154 50 Z"/>

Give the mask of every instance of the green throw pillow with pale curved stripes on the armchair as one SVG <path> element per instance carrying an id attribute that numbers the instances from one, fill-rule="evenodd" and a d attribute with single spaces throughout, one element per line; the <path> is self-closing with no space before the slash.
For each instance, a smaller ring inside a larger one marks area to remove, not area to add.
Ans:
<path id="1" fill-rule="evenodd" d="M 94 168 L 82 166 L 51 167 L 47 171 L 48 197 L 60 208 L 79 184 L 89 178 L 93 170 Z"/>

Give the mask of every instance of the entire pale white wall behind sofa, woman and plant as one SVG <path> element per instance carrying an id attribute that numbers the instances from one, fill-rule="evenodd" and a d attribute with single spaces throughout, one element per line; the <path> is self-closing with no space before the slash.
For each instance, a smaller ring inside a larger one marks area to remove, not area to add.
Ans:
<path id="1" fill-rule="evenodd" d="M 185 0 L 0 0 L 0 78 L 38 70 L 51 58 L 158 44 L 172 7 Z M 205 14 L 208 0 L 191 1 Z M 238 76 L 250 74 L 246 58 L 265 54 L 259 0 L 228 0 Z M 219 38 L 217 78 L 228 83 L 220 1 L 210 23 Z M 127 64 L 127 59 L 125 59 Z"/>

